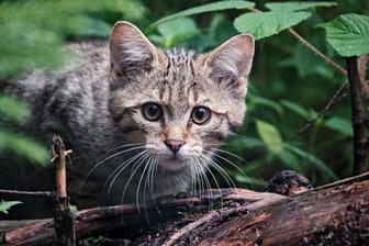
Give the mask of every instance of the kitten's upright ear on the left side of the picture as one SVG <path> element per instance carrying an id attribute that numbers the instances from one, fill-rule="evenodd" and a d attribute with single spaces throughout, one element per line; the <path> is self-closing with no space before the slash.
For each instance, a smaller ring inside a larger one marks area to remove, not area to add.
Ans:
<path id="1" fill-rule="evenodd" d="M 113 79 L 149 71 L 164 54 L 133 24 L 115 23 L 110 35 L 110 59 Z"/>

